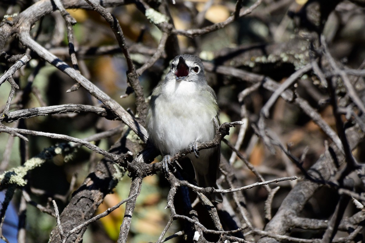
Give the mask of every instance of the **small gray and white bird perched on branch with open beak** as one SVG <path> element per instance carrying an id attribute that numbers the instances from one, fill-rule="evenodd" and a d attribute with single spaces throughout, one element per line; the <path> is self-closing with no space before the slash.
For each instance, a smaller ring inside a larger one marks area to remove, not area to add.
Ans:
<path id="1" fill-rule="evenodd" d="M 149 140 L 163 156 L 193 150 L 185 158 L 192 162 L 197 185 L 218 189 L 220 144 L 196 151 L 198 142 L 213 140 L 219 125 L 216 94 L 205 79 L 200 58 L 183 54 L 172 60 L 165 80 L 152 92 L 146 124 Z M 216 203 L 223 200 L 220 193 L 207 196 Z"/>

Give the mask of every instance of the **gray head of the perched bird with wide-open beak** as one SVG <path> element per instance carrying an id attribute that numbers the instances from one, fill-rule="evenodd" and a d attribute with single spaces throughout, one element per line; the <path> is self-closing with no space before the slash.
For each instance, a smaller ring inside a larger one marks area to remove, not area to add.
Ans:
<path id="1" fill-rule="evenodd" d="M 171 62 L 166 81 L 174 79 L 177 82 L 188 81 L 200 85 L 207 83 L 204 75 L 204 66 L 201 60 L 194 55 L 178 55 Z"/>

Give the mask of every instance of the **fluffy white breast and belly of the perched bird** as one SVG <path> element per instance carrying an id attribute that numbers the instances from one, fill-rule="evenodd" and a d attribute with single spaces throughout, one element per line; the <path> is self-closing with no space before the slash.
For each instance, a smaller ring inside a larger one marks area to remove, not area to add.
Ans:
<path id="1" fill-rule="evenodd" d="M 166 84 L 164 93 L 155 100 L 155 115 L 150 129 L 157 131 L 153 140 L 163 154 L 175 154 L 193 142 L 212 140 L 215 135 L 215 109 L 208 109 L 194 82 Z"/>

